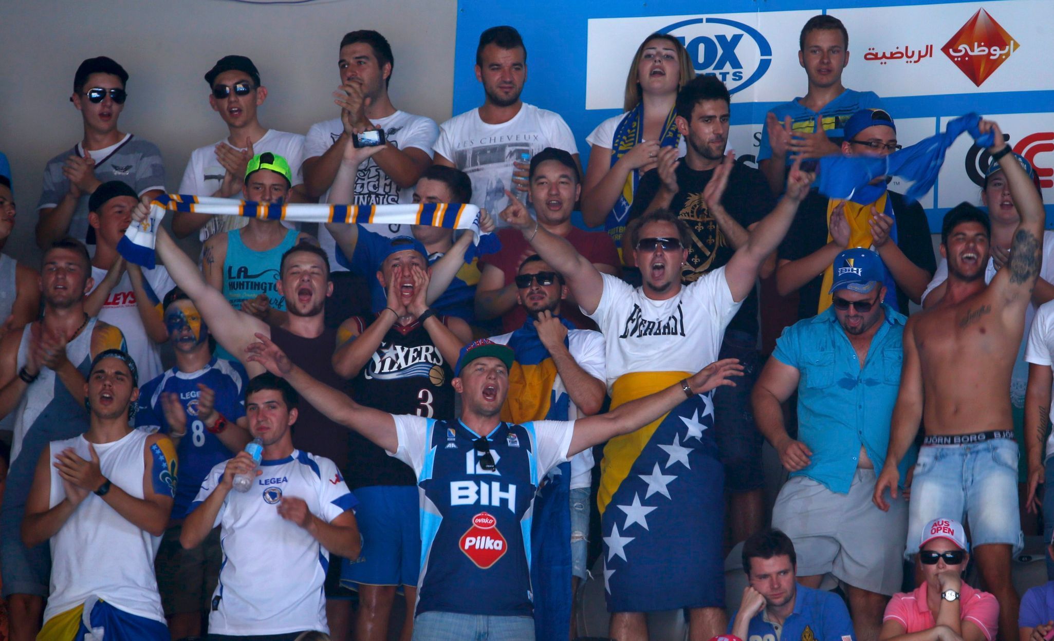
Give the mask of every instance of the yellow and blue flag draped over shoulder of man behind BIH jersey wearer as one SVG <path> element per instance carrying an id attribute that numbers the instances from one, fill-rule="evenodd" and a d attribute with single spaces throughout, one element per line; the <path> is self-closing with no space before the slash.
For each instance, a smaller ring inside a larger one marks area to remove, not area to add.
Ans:
<path id="1" fill-rule="evenodd" d="M 560 318 L 568 332 L 574 326 Z M 567 338 L 564 338 L 567 345 Z M 549 350 L 542 345 L 528 318 L 512 332 L 508 346 L 515 353 L 509 368 L 509 393 L 502 421 L 569 421 L 570 396 L 557 372 Z M 530 579 L 534 588 L 534 638 L 567 639 L 571 620 L 571 464 L 553 468 L 539 483 L 531 521 Z"/>

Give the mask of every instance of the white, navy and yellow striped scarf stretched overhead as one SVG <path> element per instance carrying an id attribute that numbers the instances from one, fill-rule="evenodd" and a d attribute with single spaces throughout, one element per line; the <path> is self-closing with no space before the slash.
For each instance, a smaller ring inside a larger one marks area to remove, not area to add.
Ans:
<path id="1" fill-rule="evenodd" d="M 131 225 L 117 244 L 117 251 L 136 265 L 154 268 L 157 226 L 167 211 L 217 216 L 247 216 L 288 222 L 372 222 L 377 225 L 427 225 L 470 230 L 481 241 L 480 208 L 474 205 L 423 202 L 421 205 L 266 205 L 230 198 L 161 194 L 151 203 L 150 216 Z"/>

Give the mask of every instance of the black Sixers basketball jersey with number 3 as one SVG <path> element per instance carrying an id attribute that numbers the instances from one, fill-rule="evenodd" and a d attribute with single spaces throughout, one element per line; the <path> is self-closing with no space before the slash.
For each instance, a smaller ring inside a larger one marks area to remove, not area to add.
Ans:
<path id="1" fill-rule="evenodd" d="M 358 331 L 365 331 L 360 318 Z M 441 317 L 440 320 L 446 320 Z M 393 325 L 352 381 L 353 397 L 391 414 L 425 419 L 454 414 L 453 370 L 425 327 Z M 358 432 L 351 433 L 348 486 L 413 485 L 413 471 Z"/>

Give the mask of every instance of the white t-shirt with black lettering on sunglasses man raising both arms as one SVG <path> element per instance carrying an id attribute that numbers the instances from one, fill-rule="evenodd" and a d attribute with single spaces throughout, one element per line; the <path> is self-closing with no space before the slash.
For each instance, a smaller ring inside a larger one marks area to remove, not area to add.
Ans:
<path id="1" fill-rule="evenodd" d="M 733 300 L 724 272 L 707 272 L 665 300 L 601 274 L 604 292 L 587 315 L 604 334 L 608 390 L 629 372 L 695 373 L 718 360 L 725 327 L 743 303 Z"/>

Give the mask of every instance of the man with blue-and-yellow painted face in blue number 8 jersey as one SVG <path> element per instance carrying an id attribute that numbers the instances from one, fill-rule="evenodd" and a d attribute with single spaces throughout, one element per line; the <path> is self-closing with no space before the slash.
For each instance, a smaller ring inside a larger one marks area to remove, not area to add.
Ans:
<path id="1" fill-rule="evenodd" d="M 176 502 L 156 569 L 172 638 L 182 639 L 201 634 L 201 613 L 209 609 L 222 561 L 218 531 L 203 547 L 184 550 L 179 545 L 182 522 L 209 470 L 249 442 L 242 393 L 249 378 L 237 361 L 213 357 L 209 327 L 179 288 L 164 297 L 164 326 L 176 366 L 139 390 L 135 425 L 169 436 L 179 457 Z"/>

